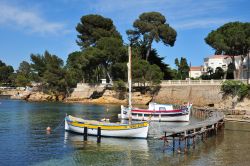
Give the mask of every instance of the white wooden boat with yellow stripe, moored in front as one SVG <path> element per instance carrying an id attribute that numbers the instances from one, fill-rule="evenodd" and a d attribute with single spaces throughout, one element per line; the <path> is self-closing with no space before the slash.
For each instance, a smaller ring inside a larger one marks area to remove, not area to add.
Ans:
<path id="1" fill-rule="evenodd" d="M 110 123 L 95 120 L 85 120 L 73 116 L 65 117 L 65 130 L 83 134 L 87 127 L 88 135 L 97 135 L 98 127 L 101 128 L 101 136 L 120 138 L 147 138 L 148 122 L 136 122 L 132 124 Z"/>

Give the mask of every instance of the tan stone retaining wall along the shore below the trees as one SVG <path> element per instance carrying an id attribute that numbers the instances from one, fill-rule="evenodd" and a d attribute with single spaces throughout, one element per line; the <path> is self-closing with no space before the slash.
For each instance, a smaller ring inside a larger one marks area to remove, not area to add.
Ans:
<path id="1" fill-rule="evenodd" d="M 67 100 L 81 100 L 93 98 L 94 92 L 103 92 L 103 97 L 117 98 L 114 91 L 106 90 L 105 86 L 77 84 L 73 93 Z M 139 95 L 144 98 L 145 96 Z M 133 93 L 133 97 L 139 98 L 137 93 Z M 149 96 L 148 96 L 149 97 Z M 150 101 L 150 99 L 147 99 Z M 175 103 L 182 104 L 183 102 L 192 102 L 196 106 L 206 106 L 209 104 L 218 104 L 222 101 L 222 94 L 220 93 L 219 85 L 172 85 L 162 86 L 158 94 L 153 97 L 154 102 L 158 103 Z M 136 101 L 135 103 L 140 103 Z M 142 102 L 145 103 L 145 102 Z"/>

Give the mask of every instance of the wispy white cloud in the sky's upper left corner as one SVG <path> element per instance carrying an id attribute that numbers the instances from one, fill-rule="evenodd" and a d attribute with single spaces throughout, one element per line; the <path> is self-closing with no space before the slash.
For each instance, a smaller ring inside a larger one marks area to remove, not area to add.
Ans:
<path id="1" fill-rule="evenodd" d="M 0 3 L 0 26 L 10 25 L 29 33 L 58 34 L 65 31 L 62 23 L 49 22 L 35 10 Z"/>

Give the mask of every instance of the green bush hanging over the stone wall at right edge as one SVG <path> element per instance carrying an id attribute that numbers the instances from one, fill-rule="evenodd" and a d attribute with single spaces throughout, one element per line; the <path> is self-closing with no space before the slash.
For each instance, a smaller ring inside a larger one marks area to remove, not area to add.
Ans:
<path id="1" fill-rule="evenodd" d="M 250 86 L 241 81 L 225 81 L 221 86 L 224 95 L 238 96 L 239 100 L 250 97 Z"/>

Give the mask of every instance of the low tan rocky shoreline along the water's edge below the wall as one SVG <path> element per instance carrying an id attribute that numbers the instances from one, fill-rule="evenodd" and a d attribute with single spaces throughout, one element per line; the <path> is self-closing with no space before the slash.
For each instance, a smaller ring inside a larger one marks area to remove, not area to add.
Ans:
<path id="1" fill-rule="evenodd" d="M 119 95 L 117 95 L 116 92 L 111 90 L 108 90 L 101 97 L 98 98 L 65 98 L 64 96 L 55 96 L 45 94 L 43 92 L 30 92 L 24 90 L 6 90 L 2 91 L 1 95 L 9 95 L 11 96 L 11 99 L 26 100 L 29 102 L 60 101 L 65 103 L 82 104 L 127 104 L 126 99 L 119 99 L 119 97 L 117 97 Z M 134 105 L 147 105 L 150 101 L 154 101 L 153 99 L 153 96 L 151 96 L 150 94 L 141 94 L 139 92 L 134 92 L 132 94 L 132 100 Z M 227 121 L 250 122 L 249 99 L 244 99 L 243 101 L 235 101 L 235 99 L 232 97 L 226 97 L 219 103 L 213 105 L 199 105 L 199 108 L 223 111 L 226 115 L 225 120 Z"/>

